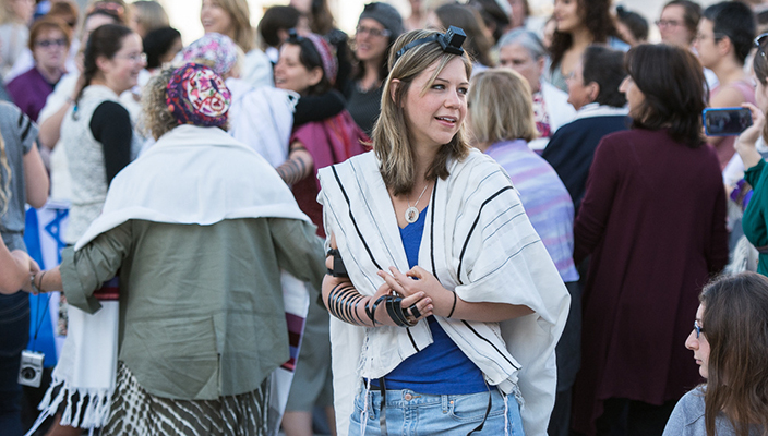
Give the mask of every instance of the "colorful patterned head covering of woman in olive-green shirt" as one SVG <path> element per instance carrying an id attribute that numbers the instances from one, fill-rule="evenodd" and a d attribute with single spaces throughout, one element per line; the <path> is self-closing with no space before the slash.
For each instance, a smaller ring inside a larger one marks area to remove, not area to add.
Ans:
<path id="1" fill-rule="evenodd" d="M 166 105 L 179 124 L 220 128 L 227 123 L 232 96 L 208 66 L 188 63 L 177 69 L 166 89 Z"/>

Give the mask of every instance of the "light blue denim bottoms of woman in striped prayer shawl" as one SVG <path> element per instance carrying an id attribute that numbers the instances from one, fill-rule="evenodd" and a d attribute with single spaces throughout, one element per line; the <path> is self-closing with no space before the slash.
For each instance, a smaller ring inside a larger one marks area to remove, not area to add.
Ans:
<path id="1" fill-rule="evenodd" d="M 514 396 L 491 388 L 491 412 L 482 431 L 472 435 L 524 436 L 520 408 Z M 392 436 L 466 436 L 485 415 L 489 392 L 468 395 L 424 395 L 409 389 L 386 391 L 386 429 Z M 368 398 L 368 402 L 365 401 Z M 365 390 L 355 398 L 349 436 L 380 436 L 382 395 Z M 367 411 L 367 413 L 363 413 Z M 505 417 L 506 411 L 506 417 Z M 365 419 L 364 426 L 360 421 Z M 364 433 L 363 433 L 364 432 Z"/>

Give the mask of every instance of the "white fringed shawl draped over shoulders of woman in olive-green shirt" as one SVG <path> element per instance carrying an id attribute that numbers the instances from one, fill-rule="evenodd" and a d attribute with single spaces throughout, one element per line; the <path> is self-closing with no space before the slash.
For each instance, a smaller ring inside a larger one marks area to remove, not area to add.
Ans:
<path id="1" fill-rule="evenodd" d="M 75 250 L 131 219 L 207 226 L 225 219 L 263 217 L 311 222 L 257 153 L 220 129 L 180 125 L 118 173 L 101 215 Z M 283 274 L 284 292 L 305 294 L 302 282 Z M 287 290 L 287 283 L 295 289 Z M 95 314 L 70 307 L 70 332 L 51 387 L 38 407 L 43 412 L 27 435 L 53 415 L 64 399 L 73 403 L 74 393 L 80 397 L 76 413 L 67 408 L 62 425 L 93 431 L 107 423 L 117 371 L 118 317 L 117 301 L 103 301 Z M 58 395 L 52 397 L 55 390 Z M 91 398 L 87 404 L 85 395 Z"/>

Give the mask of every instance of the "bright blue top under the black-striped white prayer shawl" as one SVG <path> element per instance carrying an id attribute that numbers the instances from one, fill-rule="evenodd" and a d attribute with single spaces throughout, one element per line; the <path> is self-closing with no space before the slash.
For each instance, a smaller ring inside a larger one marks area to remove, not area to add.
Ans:
<path id="1" fill-rule="evenodd" d="M 410 268 L 419 262 L 419 246 L 424 232 L 425 217 L 427 208 L 419 214 L 419 219 L 416 222 L 400 229 L 400 239 Z M 434 342 L 403 361 L 387 374 L 385 377 L 386 388 L 410 389 L 429 395 L 487 392 L 488 386 L 480 368 L 456 347 L 456 343 L 445 334 L 434 316 L 427 319 Z"/>

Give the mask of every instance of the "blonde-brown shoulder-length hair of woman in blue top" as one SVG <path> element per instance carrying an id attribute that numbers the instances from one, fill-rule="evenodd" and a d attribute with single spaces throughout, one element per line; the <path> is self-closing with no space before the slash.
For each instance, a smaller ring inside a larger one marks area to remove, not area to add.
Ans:
<path id="1" fill-rule="evenodd" d="M 400 35 L 389 50 L 389 75 L 384 82 L 382 95 L 382 110 L 371 134 L 373 152 L 381 162 L 381 174 L 384 183 L 394 195 L 407 194 L 413 189 L 416 182 L 416 166 L 413 149 L 410 146 L 410 133 L 406 123 L 404 102 L 413 80 L 428 70 L 435 62 L 434 71 L 427 85 L 421 89 L 423 95 L 434 83 L 437 75 L 457 55 L 443 51 L 437 41 L 420 44 L 406 51 L 399 59 L 395 53 L 407 44 L 436 35 L 435 31 L 411 31 Z M 472 74 L 472 63 L 467 55 L 460 56 L 467 77 Z M 399 81 L 399 85 L 392 89 L 392 82 Z M 448 160 L 464 159 L 469 154 L 469 142 L 465 134 L 464 125 L 447 144 L 443 145 L 434 161 L 427 171 L 427 180 L 436 178 L 445 179 L 449 175 Z"/>

